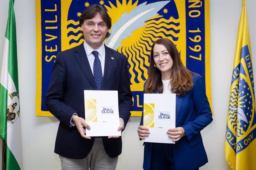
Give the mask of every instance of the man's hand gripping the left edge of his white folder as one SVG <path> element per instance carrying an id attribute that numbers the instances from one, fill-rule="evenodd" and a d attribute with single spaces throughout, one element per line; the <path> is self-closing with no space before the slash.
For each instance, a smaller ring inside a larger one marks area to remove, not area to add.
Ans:
<path id="1" fill-rule="evenodd" d="M 80 118 L 77 115 L 73 115 L 72 120 L 75 123 L 80 135 L 85 139 L 91 139 L 91 137 L 86 136 L 86 129 L 90 130 L 91 127 L 85 122 L 85 119 Z"/>

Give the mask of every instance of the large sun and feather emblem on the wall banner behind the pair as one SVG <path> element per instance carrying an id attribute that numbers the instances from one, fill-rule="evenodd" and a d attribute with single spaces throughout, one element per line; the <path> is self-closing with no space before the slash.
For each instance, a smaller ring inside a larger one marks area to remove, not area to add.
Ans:
<path id="1" fill-rule="evenodd" d="M 66 22 L 67 38 L 62 40 L 62 50 L 83 43 L 79 16 L 86 7 L 95 4 L 92 0 L 70 2 Z M 101 0 L 98 3 L 106 8 L 112 19 L 111 36 L 104 43 L 127 57 L 134 101 L 132 111 L 142 111 L 143 84 L 148 78 L 153 42 L 158 38 L 168 38 L 181 51 L 178 44 L 180 19 L 176 4 L 170 0 L 137 0 L 134 3 L 132 0 Z"/>

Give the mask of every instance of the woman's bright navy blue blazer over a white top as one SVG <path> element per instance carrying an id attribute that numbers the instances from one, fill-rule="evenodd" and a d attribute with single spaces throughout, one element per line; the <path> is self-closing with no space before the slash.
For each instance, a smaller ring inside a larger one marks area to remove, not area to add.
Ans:
<path id="1" fill-rule="evenodd" d="M 193 170 L 208 162 L 200 131 L 211 123 L 212 113 L 201 77 L 193 75 L 193 82 L 193 88 L 184 96 L 176 95 L 176 127 L 183 127 L 186 133 L 178 142 L 170 144 L 174 145 L 176 170 Z M 151 151 L 152 143 L 145 142 L 144 170 L 150 170 Z"/>

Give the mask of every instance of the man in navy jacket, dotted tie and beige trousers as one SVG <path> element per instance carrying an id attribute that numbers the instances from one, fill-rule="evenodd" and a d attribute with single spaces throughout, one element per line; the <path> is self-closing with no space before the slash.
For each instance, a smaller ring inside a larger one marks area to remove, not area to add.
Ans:
<path id="1" fill-rule="evenodd" d="M 85 42 L 59 52 L 45 98 L 46 108 L 60 120 L 55 143 L 62 169 L 115 169 L 122 151 L 120 136 L 89 137 L 85 122 L 84 90 L 117 90 L 123 130 L 132 107 L 127 58 L 108 48 L 111 18 L 99 5 L 82 13 L 79 23 Z"/>

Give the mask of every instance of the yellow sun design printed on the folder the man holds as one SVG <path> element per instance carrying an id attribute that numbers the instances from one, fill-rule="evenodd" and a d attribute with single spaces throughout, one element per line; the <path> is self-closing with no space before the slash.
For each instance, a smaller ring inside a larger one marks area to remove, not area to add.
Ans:
<path id="1" fill-rule="evenodd" d="M 96 99 L 85 99 L 85 121 L 97 122 Z"/>

